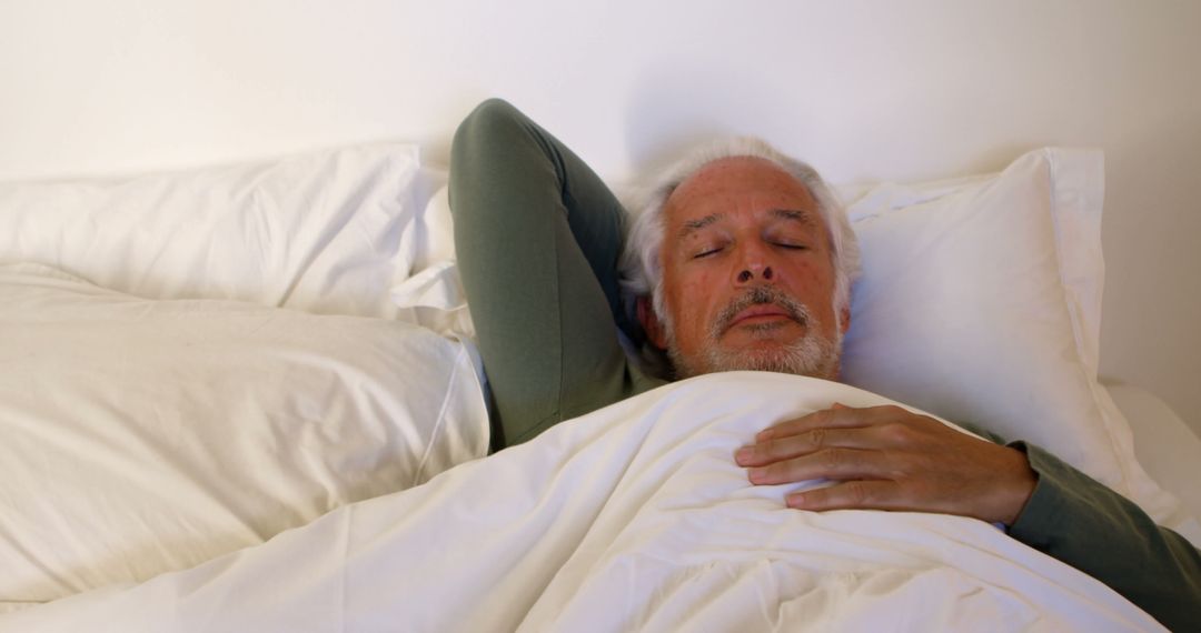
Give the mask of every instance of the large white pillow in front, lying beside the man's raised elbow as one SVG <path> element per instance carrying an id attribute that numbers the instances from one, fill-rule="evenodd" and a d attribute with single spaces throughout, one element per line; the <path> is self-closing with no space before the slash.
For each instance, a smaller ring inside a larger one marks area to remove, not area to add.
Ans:
<path id="1" fill-rule="evenodd" d="M 473 349 L 0 266 L 0 603 L 144 580 L 488 448 Z"/>

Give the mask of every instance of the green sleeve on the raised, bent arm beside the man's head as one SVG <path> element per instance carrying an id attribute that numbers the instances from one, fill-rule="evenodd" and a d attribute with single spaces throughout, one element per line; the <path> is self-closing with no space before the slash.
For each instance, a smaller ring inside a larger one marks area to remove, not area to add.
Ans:
<path id="1" fill-rule="evenodd" d="M 485 101 L 455 132 L 449 192 L 494 450 L 661 384 L 619 342 L 639 336 L 617 285 L 625 212 L 579 157 Z"/>

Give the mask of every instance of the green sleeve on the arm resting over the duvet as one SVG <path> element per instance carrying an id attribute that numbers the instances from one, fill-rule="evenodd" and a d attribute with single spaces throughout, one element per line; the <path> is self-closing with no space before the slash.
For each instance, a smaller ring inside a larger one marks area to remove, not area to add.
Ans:
<path id="1" fill-rule="evenodd" d="M 1093 578 L 1171 631 L 1201 631 L 1201 553 L 1134 502 L 1026 442 L 1038 474 L 1009 535 Z"/>

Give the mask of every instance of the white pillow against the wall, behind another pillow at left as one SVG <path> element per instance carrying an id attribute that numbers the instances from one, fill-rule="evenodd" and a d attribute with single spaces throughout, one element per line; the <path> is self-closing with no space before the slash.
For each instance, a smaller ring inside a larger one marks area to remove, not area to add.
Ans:
<path id="1" fill-rule="evenodd" d="M 0 183 L 0 263 L 36 261 L 154 299 L 395 315 L 414 145 L 131 179 Z"/>

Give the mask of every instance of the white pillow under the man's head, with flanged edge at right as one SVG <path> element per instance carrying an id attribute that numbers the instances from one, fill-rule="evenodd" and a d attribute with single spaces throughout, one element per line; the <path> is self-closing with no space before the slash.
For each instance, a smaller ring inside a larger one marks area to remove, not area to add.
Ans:
<path id="1" fill-rule="evenodd" d="M 860 197 L 843 379 L 1040 445 L 1164 520 L 1178 504 L 1097 382 L 1103 182 L 1100 152 L 1046 149 Z"/>

